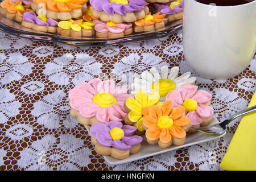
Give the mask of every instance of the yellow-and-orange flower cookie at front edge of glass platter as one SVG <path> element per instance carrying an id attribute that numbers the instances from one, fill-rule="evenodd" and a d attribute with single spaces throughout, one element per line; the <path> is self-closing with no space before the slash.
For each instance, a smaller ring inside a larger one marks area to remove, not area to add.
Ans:
<path id="1" fill-rule="evenodd" d="M 60 21 L 58 23 L 57 32 L 61 36 L 70 36 L 79 38 L 81 36 L 93 36 L 95 34 L 94 24 L 92 22 L 83 22 L 80 20 Z"/>

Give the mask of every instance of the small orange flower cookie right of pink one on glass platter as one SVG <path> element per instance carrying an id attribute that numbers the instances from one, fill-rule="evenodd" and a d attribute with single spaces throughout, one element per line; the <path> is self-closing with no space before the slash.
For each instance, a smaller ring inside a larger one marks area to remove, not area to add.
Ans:
<path id="1" fill-rule="evenodd" d="M 151 15 L 150 13 L 145 16 L 145 18 L 135 21 L 135 32 L 148 32 L 148 31 L 154 31 L 159 30 L 160 28 L 164 27 L 164 24 L 167 23 L 167 19 L 164 18 L 165 14 L 160 14 L 160 12 Z"/>

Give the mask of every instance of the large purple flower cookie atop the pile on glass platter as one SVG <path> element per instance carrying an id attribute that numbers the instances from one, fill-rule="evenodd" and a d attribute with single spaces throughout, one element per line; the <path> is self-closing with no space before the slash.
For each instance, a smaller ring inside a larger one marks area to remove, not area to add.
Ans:
<path id="1" fill-rule="evenodd" d="M 144 0 L 90 0 L 90 11 L 105 22 L 131 23 L 146 16 L 149 9 Z"/>

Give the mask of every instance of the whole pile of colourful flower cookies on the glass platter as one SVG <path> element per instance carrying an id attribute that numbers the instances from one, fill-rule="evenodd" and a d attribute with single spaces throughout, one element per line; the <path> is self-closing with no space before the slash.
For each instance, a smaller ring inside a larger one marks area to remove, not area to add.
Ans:
<path id="1" fill-rule="evenodd" d="M 163 30 L 181 19 L 183 0 L 4 0 L 0 13 L 36 31 L 119 38 Z M 151 7 L 151 8 L 150 8 Z"/>

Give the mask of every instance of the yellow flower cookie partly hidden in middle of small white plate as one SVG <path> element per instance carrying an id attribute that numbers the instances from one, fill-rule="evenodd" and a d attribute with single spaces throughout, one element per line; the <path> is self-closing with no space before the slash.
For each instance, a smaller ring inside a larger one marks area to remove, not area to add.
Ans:
<path id="1" fill-rule="evenodd" d="M 139 90 L 134 94 L 134 97 L 129 97 L 125 101 L 125 123 L 127 125 L 134 125 L 139 131 L 144 131 L 142 121 L 145 115 L 148 114 L 148 109 L 159 101 L 159 94 L 152 92 L 147 94 L 143 90 Z"/>

